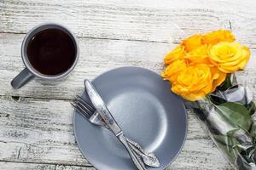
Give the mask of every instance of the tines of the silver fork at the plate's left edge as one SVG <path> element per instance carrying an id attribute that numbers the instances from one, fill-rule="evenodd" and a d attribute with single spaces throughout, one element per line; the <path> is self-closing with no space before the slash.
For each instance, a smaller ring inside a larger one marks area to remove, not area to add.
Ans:
<path id="1" fill-rule="evenodd" d="M 71 103 L 76 111 L 79 111 L 80 114 L 90 118 L 93 113 L 96 111 L 94 107 L 92 107 L 88 102 L 82 99 L 79 95 L 75 97 L 73 103 Z"/>

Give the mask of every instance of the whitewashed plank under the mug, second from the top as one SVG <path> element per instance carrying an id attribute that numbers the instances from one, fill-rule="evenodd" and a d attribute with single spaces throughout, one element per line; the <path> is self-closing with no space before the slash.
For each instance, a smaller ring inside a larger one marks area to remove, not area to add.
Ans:
<path id="1" fill-rule="evenodd" d="M 104 71 L 121 66 L 142 66 L 160 73 L 163 58 L 172 48 L 173 43 L 132 42 L 79 38 L 81 48 L 79 64 L 64 81 L 49 82 L 33 80 L 19 90 L 10 87 L 10 82 L 23 68 L 20 58 L 20 44 L 24 35 L 0 33 L 0 95 L 15 95 L 45 99 L 73 99 L 83 91 L 84 78 L 93 79 Z M 247 65 L 247 71 L 239 73 L 241 80 L 255 80 L 253 68 L 256 65 L 255 50 Z M 251 83 L 252 85 L 254 83 Z M 256 87 L 252 86 L 253 92 Z"/>

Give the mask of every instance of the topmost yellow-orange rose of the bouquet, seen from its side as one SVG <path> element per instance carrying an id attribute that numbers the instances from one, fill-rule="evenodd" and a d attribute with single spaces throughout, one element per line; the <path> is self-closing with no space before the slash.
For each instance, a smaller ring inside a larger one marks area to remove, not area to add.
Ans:
<path id="1" fill-rule="evenodd" d="M 202 42 L 207 44 L 215 44 L 218 42 L 234 42 L 235 39 L 235 36 L 230 31 L 218 30 L 205 34 L 202 37 Z"/>

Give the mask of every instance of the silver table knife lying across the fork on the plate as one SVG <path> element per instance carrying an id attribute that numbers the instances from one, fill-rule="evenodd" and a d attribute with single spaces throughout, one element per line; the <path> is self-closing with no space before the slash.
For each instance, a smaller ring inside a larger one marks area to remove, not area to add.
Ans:
<path id="1" fill-rule="evenodd" d="M 141 160 L 141 158 L 133 150 L 131 150 L 131 147 L 128 144 L 122 129 L 119 127 L 118 123 L 114 120 L 113 116 L 108 110 L 107 105 L 105 105 L 101 96 L 97 93 L 96 88 L 94 88 L 94 86 L 91 84 L 89 80 L 84 80 L 84 87 L 86 89 L 86 92 L 90 98 L 92 105 L 94 105 L 94 107 L 96 108 L 96 111 L 98 111 L 100 116 L 102 116 L 102 119 L 106 122 L 109 129 L 114 133 L 114 135 L 119 139 L 119 141 L 125 146 L 125 149 L 128 151 L 134 165 L 137 167 L 138 170 L 146 170 L 146 167 L 144 166 L 144 163 Z"/>

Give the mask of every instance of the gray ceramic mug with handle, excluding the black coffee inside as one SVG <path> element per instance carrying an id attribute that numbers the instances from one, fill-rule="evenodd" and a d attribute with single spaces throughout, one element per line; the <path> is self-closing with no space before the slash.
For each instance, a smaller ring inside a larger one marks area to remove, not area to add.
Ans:
<path id="1" fill-rule="evenodd" d="M 65 33 L 67 33 L 67 35 L 69 37 L 71 37 L 71 39 L 73 41 L 73 44 L 74 44 L 74 47 L 75 47 L 75 50 L 76 50 L 76 56 L 75 56 L 75 59 L 73 61 L 73 65 L 71 65 L 67 69 L 67 71 L 62 72 L 61 74 L 57 74 L 57 75 L 42 74 L 32 66 L 32 64 L 30 63 L 30 61 L 28 59 L 28 56 L 27 56 L 27 53 L 26 53 L 28 42 L 30 42 L 30 40 L 36 34 L 38 34 L 38 32 L 44 31 L 46 29 L 58 29 L 58 30 L 64 31 Z M 15 89 L 21 88 L 27 82 L 31 81 L 34 77 L 39 77 L 39 78 L 42 78 L 44 80 L 58 80 L 58 79 L 61 79 L 63 77 L 67 77 L 67 75 L 71 71 L 73 71 L 73 68 L 78 63 L 79 43 L 77 41 L 77 38 L 73 35 L 73 33 L 71 31 L 69 31 L 66 27 L 61 26 L 59 24 L 55 24 L 55 23 L 44 23 L 42 25 L 35 26 L 34 28 L 32 28 L 31 31 L 28 31 L 28 33 L 26 34 L 26 37 L 24 38 L 24 40 L 22 42 L 22 45 L 21 45 L 21 58 L 23 60 L 24 65 L 26 66 L 26 68 L 23 71 L 20 71 L 20 73 L 12 80 L 11 86 Z"/>

